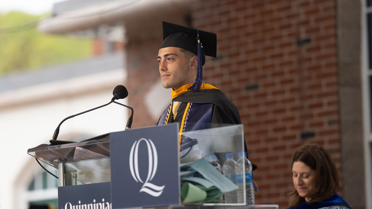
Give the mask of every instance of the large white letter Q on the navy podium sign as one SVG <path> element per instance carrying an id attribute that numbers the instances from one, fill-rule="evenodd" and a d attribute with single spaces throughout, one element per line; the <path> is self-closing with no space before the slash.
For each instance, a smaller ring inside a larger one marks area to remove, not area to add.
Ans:
<path id="1" fill-rule="evenodd" d="M 140 174 L 138 172 L 138 145 L 141 141 L 145 141 L 148 151 L 148 173 L 145 181 L 142 181 Z M 135 141 L 132 145 L 131 152 L 129 154 L 129 168 L 131 170 L 132 177 L 135 181 L 143 183 L 140 192 L 145 192 L 151 196 L 158 197 L 163 193 L 163 186 L 156 186 L 155 184 L 150 183 L 156 173 L 158 167 L 158 154 L 156 147 L 151 139 L 141 138 L 138 141 Z M 152 190 L 151 190 L 152 189 Z"/>

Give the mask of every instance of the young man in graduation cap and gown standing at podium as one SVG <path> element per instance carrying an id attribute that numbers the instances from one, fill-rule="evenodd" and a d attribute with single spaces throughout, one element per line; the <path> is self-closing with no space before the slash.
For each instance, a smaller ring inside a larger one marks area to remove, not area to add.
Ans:
<path id="1" fill-rule="evenodd" d="M 163 22 L 163 43 L 157 61 L 163 87 L 171 88 L 172 102 L 158 125 L 179 122 L 180 133 L 241 124 L 238 109 L 218 88 L 203 81 L 205 55 L 216 57 L 217 35 Z M 257 191 L 256 183 L 254 189 Z"/>

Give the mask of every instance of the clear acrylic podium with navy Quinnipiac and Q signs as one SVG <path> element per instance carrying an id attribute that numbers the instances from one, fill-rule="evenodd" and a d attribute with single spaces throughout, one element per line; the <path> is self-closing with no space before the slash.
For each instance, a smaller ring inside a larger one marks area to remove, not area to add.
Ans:
<path id="1" fill-rule="evenodd" d="M 222 165 L 224 159 L 219 156 L 233 153 L 237 158 L 238 152 L 244 151 L 243 143 L 243 125 L 184 132 L 179 136 L 179 124 L 172 123 L 112 132 L 69 144 L 43 144 L 28 149 L 28 154 L 58 169 L 59 209 L 179 207 L 180 164 L 217 155 Z M 245 202 L 202 205 L 237 208 Z M 187 207 L 195 206 L 201 207 L 200 203 Z M 278 208 L 263 206 L 260 208 Z"/>

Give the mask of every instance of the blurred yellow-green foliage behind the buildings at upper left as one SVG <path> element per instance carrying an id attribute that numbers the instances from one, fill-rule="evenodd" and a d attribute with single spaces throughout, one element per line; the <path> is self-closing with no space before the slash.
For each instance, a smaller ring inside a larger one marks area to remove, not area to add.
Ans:
<path id="1" fill-rule="evenodd" d="M 87 38 L 70 38 L 40 33 L 38 20 L 22 12 L 0 13 L 0 75 L 90 57 L 92 44 Z"/>

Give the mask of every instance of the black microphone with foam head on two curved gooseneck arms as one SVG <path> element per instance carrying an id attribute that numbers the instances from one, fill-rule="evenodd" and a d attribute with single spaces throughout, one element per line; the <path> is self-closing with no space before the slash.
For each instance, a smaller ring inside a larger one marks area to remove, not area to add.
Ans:
<path id="1" fill-rule="evenodd" d="M 53 137 L 52 137 L 52 140 L 50 140 L 50 142 L 52 143 L 52 141 L 56 141 L 57 140 L 58 134 L 60 133 L 60 126 L 61 126 L 61 124 L 63 122 L 65 122 L 65 120 L 70 119 L 70 118 L 74 118 L 75 116 L 78 116 L 78 115 L 81 115 L 81 114 L 90 112 L 90 111 L 95 110 L 95 109 L 99 109 L 99 108 L 104 107 L 104 106 L 107 106 L 107 105 L 109 105 L 111 103 L 116 103 L 118 105 L 122 105 L 124 107 L 128 107 L 129 109 L 132 110 L 132 114 L 129 117 L 127 123 L 126 123 L 126 128 L 125 128 L 125 129 L 130 129 L 131 128 L 131 125 L 132 125 L 132 120 L 133 120 L 133 108 L 130 107 L 130 106 L 123 105 L 123 104 L 115 101 L 116 99 L 124 99 L 125 97 L 127 97 L 128 96 L 128 90 L 126 90 L 126 88 L 124 86 L 118 85 L 118 86 L 115 87 L 115 89 L 113 90 L 112 94 L 113 94 L 113 97 L 112 97 L 112 99 L 111 99 L 111 101 L 109 103 L 107 103 L 105 105 L 101 105 L 99 107 L 94 107 L 93 109 L 86 110 L 84 112 L 77 113 L 75 115 L 68 116 L 67 118 L 63 119 L 60 122 L 60 124 L 57 126 L 57 128 L 55 129 L 54 134 L 53 134 Z M 66 143 L 68 143 L 68 142 L 66 142 Z"/>

